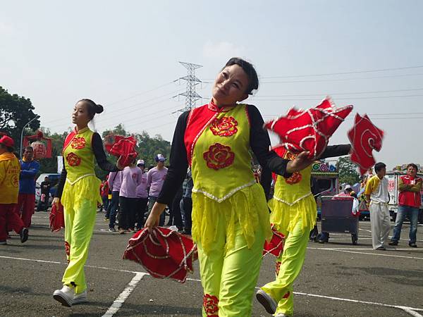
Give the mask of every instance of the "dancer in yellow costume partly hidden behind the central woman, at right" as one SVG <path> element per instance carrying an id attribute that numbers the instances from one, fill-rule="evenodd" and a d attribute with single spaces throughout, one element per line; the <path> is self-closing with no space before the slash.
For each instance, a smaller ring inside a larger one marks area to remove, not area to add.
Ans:
<path id="1" fill-rule="evenodd" d="M 350 144 L 329 146 L 318 159 L 347 155 L 350 149 Z M 283 159 L 295 159 L 285 147 L 274 151 Z M 261 287 L 256 297 L 268 313 L 276 313 L 278 317 L 293 316 L 293 282 L 300 274 L 309 232 L 316 224 L 317 206 L 311 176 L 311 166 L 289 178 L 276 175 L 274 197 L 269 201 L 270 221 L 286 240 L 283 254 L 276 259 L 276 280 Z"/>

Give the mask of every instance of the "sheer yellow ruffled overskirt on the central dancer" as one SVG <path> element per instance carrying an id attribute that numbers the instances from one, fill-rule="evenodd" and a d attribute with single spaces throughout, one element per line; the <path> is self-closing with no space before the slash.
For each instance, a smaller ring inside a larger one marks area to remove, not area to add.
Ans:
<path id="1" fill-rule="evenodd" d="M 252 247 L 257 230 L 271 239 L 269 208 L 263 187 L 255 184 L 240 189 L 222 202 L 192 192 L 192 238 L 201 242 L 205 253 L 216 241 L 218 226 L 225 226 L 226 250 L 235 246 L 235 223 L 240 223 L 247 246 Z"/>

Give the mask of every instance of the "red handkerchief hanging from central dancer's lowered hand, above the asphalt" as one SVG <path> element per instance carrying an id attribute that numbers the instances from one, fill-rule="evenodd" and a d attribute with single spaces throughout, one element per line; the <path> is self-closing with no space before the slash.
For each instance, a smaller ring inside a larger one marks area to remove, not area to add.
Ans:
<path id="1" fill-rule="evenodd" d="M 140 263 L 154 278 L 171 278 L 185 282 L 193 272 L 197 260 L 197 246 L 190 237 L 177 231 L 157 227 L 150 233 L 147 228 L 130 238 L 123 259 Z"/>

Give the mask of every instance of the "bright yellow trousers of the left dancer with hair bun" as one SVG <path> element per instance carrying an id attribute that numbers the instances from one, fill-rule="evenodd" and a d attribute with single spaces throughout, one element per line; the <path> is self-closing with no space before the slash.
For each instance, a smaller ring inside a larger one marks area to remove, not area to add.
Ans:
<path id="1" fill-rule="evenodd" d="M 68 267 L 63 274 L 63 285 L 75 285 L 75 293 L 84 292 L 84 265 L 87 261 L 88 249 L 92 230 L 94 229 L 97 212 L 97 201 L 83 200 L 74 207 L 66 206 L 65 216 L 65 244 L 68 253 Z"/>

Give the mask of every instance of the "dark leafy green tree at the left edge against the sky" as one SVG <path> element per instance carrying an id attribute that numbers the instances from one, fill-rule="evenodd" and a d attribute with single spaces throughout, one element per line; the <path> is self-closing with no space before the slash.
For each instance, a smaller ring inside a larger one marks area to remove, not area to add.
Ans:
<path id="1" fill-rule="evenodd" d="M 17 94 L 9 94 L 0 86 L 0 132 L 5 132 L 13 138 L 16 149 L 20 147 L 20 132 L 23 126 L 37 116 L 33 110 L 35 108 L 30 99 L 19 97 Z M 37 130 L 39 120 L 33 120 L 29 128 Z"/>

